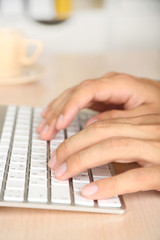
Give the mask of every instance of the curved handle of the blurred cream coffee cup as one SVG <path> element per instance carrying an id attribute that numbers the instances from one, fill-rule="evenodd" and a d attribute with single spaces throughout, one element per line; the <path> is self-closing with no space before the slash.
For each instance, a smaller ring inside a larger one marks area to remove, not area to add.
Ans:
<path id="1" fill-rule="evenodd" d="M 35 46 L 35 51 L 33 52 L 33 54 L 30 57 L 26 56 L 26 52 L 27 52 L 27 48 L 29 46 Z M 43 44 L 41 41 L 36 40 L 36 39 L 25 39 L 24 40 L 24 54 L 23 54 L 23 58 L 22 58 L 22 63 L 24 65 L 31 65 L 33 63 L 36 62 L 36 60 L 39 58 L 41 52 L 43 49 Z"/>

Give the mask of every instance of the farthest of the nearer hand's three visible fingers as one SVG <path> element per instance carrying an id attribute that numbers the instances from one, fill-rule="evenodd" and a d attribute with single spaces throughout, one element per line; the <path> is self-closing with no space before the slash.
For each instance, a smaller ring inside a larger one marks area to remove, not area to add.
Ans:
<path id="1" fill-rule="evenodd" d="M 55 165 L 55 157 L 52 157 L 49 162 L 50 168 L 55 169 L 70 156 L 106 139 L 114 137 L 150 139 L 153 141 L 160 139 L 159 125 L 138 125 L 136 121 L 138 121 L 137 118 L 135 118 L 135 122 L 130 120 L 131 123 L 128 119 L 115 119 L 114 122 L 113 120 L 103 120 L 90 125 L 59 145 L 56 150 L 57 164 Z"/>

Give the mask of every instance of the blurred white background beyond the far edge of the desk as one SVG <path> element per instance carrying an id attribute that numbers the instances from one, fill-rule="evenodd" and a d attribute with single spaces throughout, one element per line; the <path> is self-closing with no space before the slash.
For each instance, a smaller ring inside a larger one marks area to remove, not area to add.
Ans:
<path id="1" fill-rule="evenodd" d="M 160 51 L 159 0 L 0 0 L 0 27 L 41 39 L 45 53 Z M 62 20 L 61 18 L 58 19 Z"/>

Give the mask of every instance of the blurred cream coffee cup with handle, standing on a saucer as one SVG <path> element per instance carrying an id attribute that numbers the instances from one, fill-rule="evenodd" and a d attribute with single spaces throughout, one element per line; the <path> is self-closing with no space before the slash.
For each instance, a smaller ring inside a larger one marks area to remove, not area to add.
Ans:
<path id="1" fill-rule="evenodd" d="M 29 46 L 35 46 L 31 56 L 27 56 Z M 0 29 L 0 78 L 19 76 L 23 66 L 37 61 L 42 49 L 41 41 L 26 39 L 21 31 Z"/>

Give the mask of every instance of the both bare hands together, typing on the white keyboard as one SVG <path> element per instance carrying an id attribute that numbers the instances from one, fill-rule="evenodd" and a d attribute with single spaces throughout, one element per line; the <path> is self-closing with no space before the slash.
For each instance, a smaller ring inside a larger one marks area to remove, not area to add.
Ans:
<path id="1" fill-rule="evenodd" d="M 160 83 L 108 73 L 67 89 L 43 111 L 40 138 L 52 139 L 79 110 L 99 111 L 86 128 L 52 153 L 49 167 L 60 180 L 110 162 L 137 162 L 140 168 L 96 181 L 82 189 L 89 199 L 160 190 Z M 96 135 L 96 138 L 95 138 Z M 78 166 L 78 167 L 77 167 Z"/>

